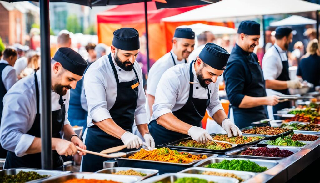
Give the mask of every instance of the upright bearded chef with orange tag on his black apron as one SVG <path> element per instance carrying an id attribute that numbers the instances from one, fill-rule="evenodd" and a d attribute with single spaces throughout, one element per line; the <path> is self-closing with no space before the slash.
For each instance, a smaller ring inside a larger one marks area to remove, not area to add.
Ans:
<path id="1" fill-rule="evenodd" d="M 132 133 L 137 128 L 152 150 L 154 140 L 148 130 L 146 95 L 142 70 L 135 62 L 139 54 L 139 33 L 133 28 L 113 32 L 111 53 L 92 63 L 84 75 L 84 93 L 88 103 L 87 131 L 84 142 L 90 151 L 126 145 L 124 151 L 140 148 L 142 139 Z M 81 171 L 103 169 L 108 158 L 84 156 Z"/>

